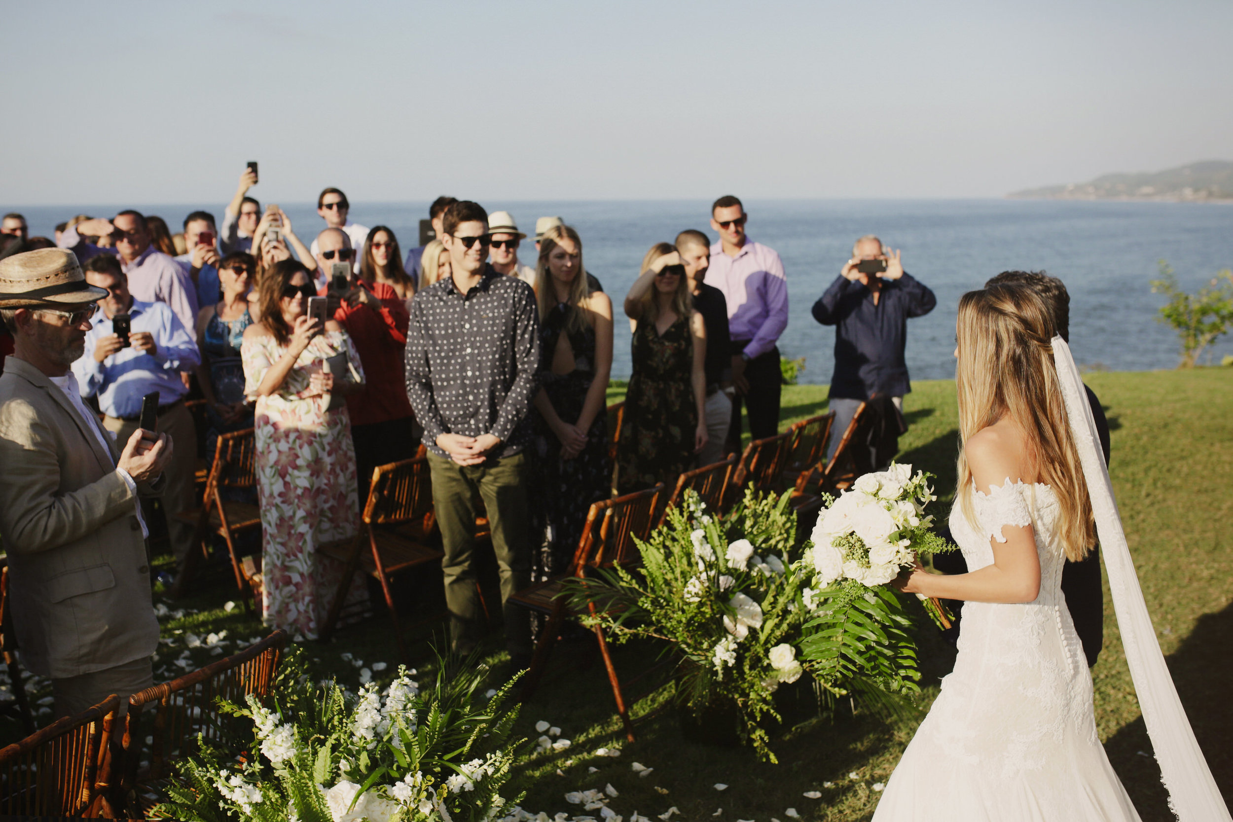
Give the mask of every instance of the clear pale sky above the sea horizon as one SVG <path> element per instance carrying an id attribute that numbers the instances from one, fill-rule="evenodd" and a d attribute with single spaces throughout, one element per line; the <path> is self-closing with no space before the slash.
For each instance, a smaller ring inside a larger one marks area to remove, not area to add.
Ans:
<path id="1" fill-rule="evenodd" d="M 0 201 L 985 197 L 1233 159 L 1233 2 L 14 2 Z M 265 186 L 271 189 L 272 186 Z"/>

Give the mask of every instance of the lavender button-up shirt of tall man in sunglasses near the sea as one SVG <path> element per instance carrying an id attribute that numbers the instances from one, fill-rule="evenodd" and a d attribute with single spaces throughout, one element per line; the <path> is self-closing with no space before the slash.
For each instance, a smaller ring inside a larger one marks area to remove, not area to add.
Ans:
<path id="1" fill-rule="evenodd" d="M 707 282 L 724 293 L 729 333 L 734 341 L 748 340 L 743 352 L 751 360 L 774 348 L 788 328 L 788 277 L 774 249 L 746 238 L 740 254 L 727 256 L 723 243 L 715 243 Z"/>

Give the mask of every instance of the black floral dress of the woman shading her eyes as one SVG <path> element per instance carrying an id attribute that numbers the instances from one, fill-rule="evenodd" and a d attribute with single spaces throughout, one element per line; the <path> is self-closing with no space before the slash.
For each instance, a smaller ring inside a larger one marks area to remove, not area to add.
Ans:
<path id="1" fill-rule="evenodd" d="M 693 335 L 683 317 L 663 334 L 655 322 L 634 332 L 634 375 L 616 444 L 616 486 L 628 494 L 677 477 L 693 467 L 698 408 L 694 404 Z"/>

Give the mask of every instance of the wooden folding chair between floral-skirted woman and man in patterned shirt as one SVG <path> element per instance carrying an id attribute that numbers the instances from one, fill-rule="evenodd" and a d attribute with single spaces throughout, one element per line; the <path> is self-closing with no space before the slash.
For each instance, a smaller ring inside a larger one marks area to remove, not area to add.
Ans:
<path id="1" fill-rule="evenodd" d="M 327 542 L 317 548 L 344 566 L 338 592 L 321 630 L 322 641 L 328 640 L 334 631 L 351 579 L 356 569 L 363 568 L 366 574 L 381 582 L 398 652 L 403 661 L 411 662 L 390 585 L 396 574 L 445 556 L 428 541 L 434 520 L 433 478 L 428 457 L 391 462 L 372 471 L 372 486 L 364 504 L 364 520 L 359 532 L 349 540 Z"/>

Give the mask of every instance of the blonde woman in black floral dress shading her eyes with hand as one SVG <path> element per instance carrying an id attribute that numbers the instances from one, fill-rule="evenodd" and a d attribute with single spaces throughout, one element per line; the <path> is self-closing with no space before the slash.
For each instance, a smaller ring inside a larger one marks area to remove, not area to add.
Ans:
<path id="1" fill-rule="evenodd" d="M 616 444 L 623 494 L 672 487 L 707 445 L 707 328 L 693 309 L 677 249 L 656 243 L 625 296 L 634 330 L 634 373 Z"/>

